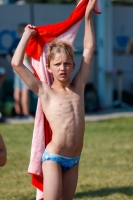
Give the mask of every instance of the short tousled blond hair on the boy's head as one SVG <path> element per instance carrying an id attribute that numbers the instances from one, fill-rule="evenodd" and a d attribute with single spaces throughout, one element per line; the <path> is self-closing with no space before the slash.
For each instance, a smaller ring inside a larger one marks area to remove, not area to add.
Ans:
<path id="1" fill-rule="evenodd" d="M 64 53 L 72 62 L 74 60 L 74 47 L 65 41 L 54 40 L 49 43 L 47 49 L 48 65 L 50 65 L 50 61 L 54 59 L 57 53 Z"/>

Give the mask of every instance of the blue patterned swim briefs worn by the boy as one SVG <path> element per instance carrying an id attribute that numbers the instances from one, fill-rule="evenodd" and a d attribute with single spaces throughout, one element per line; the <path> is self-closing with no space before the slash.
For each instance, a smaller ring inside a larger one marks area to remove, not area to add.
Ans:
<path id="1" fill-rule="evenodd" d="M 69 158 L 69 157 L 60 156 L 54 153 L 50 153 L 45 149 L 42 156 L 42 162 L 44 162 L 45 160 L 51 160 L 53 162 L 58 163 L 61 166 L 62 171 L 64 172 L 72 168 L 77 163 L 79 163 L 80 156 Z"/>

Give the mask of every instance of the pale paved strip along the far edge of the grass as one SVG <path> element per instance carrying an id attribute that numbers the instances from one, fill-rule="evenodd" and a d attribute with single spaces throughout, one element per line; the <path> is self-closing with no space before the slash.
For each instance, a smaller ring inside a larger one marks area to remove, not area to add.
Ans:
<path id="1" fill-rule="evenodd" d="M 103 111 L 98 111 L 94 113 L 88 113 L 85 115 L 86 122 L 97 122 L 108 119 L 114 119 L 118 117 L 133 117 L 133 107 L 130 109 L 105 109 Z M 22 123 L 34 123 L 34 118 L 30 119 L 14 119 L 7 118 L 6 123 L 9 124 L 22 124 Z"/>

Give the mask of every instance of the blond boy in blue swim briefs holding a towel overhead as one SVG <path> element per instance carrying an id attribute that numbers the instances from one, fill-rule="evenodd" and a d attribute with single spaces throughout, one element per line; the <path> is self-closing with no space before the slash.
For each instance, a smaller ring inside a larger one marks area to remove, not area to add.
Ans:
<path id="1" fill-rule="evenodd" d="M 12 58 L 12 66 L 41 100 L 53 135 L 42 157 L 45 200 L 72 200 L 77 186 L 78 166 L 84 137 L 84 88 L 95 49 L 92 11 L 96 0 L 89 0 L 85 12 L 84 51 L 81 66 L 70 83 L 75 68 L 73 48 L 55 41 L 48 50 L 47 69 L 53 74 L 52 86 L 38 81 L 24 66 L 26 45 L 36 34 L 35 26 L 25 27 Z"/>

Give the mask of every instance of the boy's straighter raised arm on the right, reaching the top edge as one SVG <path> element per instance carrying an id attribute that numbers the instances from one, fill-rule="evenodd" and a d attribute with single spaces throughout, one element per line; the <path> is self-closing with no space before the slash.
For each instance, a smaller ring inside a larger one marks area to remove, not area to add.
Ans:
<path id="1" fill-rule="evenodd" d="M 95 35 L 93 29 L 93 22 L 92 22 L 92 12 L 96 0 L 89 0 L 88 5 L 86 7 L 85 12 L 85 31 L 84 31 L 84 49 L 82 55 L 82 61 L 80 69 L 75 76 L 75 81 L 79 82 L 83 85 L 86 84 L 89 74 L 90 68 L 92 64 L 92 58 L 95 50 Z"/>

